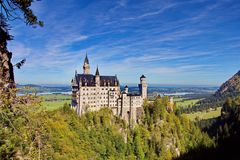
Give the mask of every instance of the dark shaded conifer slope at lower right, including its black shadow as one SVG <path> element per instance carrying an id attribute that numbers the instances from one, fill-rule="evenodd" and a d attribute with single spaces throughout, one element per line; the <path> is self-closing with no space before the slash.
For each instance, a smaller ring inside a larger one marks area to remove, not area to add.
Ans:
<path id="1" fill-rule="evenodd" d="M 207 123 L 204 122 L 204 123 Z M 216 139 L 216 146 L 196 148 L 178 157 L 178 160 L 229 160 L 239 159 L 240 97 L 228 97 L 221 116 L 205 125 L 208 134 Z M 204 125 L 203 125 L 204 126 Z"/>

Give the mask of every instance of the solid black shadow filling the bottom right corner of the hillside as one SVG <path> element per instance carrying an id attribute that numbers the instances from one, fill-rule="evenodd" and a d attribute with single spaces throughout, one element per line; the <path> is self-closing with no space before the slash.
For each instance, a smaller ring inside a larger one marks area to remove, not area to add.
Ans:
<path id="1" fill-rule="evenodd" d="M 240 159 L 240 134 L 222 141 L 216 148 L 191 150 L 175 160 L 238 160 Z"/>

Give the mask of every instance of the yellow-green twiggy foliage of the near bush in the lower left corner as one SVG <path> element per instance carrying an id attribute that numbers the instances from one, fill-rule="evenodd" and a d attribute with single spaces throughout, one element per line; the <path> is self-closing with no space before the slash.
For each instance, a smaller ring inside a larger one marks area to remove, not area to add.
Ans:
<path id="1" fill-rule="evenodd" d="M 13 92 L 13 93 L 12 93 Z M 34 95 L 0 95 L 0 159 L 37 159 L 49 155 L 47 113 Z"/>

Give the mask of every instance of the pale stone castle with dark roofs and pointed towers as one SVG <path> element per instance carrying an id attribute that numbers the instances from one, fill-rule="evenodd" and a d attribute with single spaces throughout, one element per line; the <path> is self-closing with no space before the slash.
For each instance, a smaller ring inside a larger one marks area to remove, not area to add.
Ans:
<path id="1" fill-rule="evenodd" d="M 97 111 L 109 107 L 113 114 L 126 120 L 129 124 L 137 122 L 137 111 L 141 110 L 144 99 L 147 99 L 146 77 L 140 77 L 139 94 L 120 89 L 117 76 L 102 76 L 97 67 L 95 75 L 90 74 L 90 64 L 86 55 L 83 64 L 83 74 L 75 71 L 72 79 L 72 108 L 81 116 L 87 110 Z"/>

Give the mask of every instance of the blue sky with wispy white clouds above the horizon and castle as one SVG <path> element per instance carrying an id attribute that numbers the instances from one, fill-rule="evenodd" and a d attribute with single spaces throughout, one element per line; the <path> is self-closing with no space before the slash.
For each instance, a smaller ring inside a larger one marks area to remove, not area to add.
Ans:
<path id="1" fill-rule="evenodd" d="M 239 0 L 42 0 L 44 21 L 10 23 L 17 83 L 69 84 L 88 53 L 91 72 L 120 82 L 220 85 L 240 69 Z"/>

